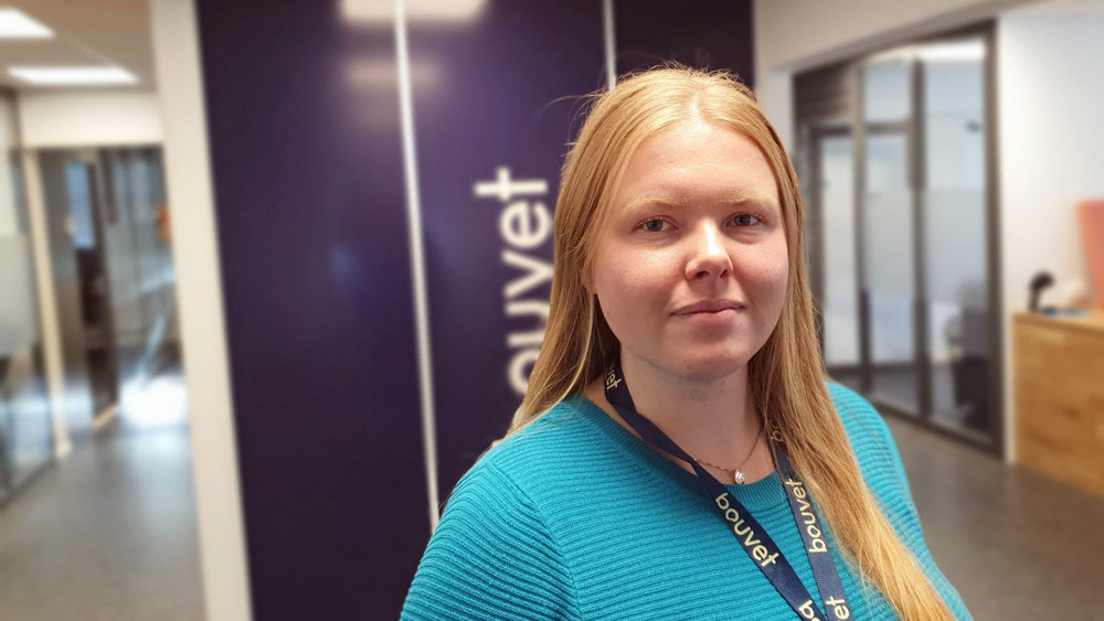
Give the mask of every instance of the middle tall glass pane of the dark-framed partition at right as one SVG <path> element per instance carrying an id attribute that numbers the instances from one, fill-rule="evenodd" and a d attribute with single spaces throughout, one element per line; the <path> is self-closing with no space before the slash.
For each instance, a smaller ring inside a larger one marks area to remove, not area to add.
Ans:
<path id="1" fill-rule="evenodd" d="M 870 322 L 872 389 L 916 411 L 913 330 L 912 192 L 904 133 L 874 133 L 866 142 L 863 263 Z"/>

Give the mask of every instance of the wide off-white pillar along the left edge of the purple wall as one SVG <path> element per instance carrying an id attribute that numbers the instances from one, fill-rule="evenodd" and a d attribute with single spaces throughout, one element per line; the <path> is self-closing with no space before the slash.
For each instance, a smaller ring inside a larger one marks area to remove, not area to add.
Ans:
<path id="1" fill-rule="evenodd" d="M 206 619 L 252 618 L 194 0 L 150 4 Z"/>

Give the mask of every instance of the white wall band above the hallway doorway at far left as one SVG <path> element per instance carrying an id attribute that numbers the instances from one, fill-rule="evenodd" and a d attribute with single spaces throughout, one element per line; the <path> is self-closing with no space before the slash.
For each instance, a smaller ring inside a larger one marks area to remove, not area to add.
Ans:
<path id="1" fill-rule="evenodd" d="M 25 90 L 19 94 L 23 146 L 110 147 L 161 143 L 152 90 Z"/>

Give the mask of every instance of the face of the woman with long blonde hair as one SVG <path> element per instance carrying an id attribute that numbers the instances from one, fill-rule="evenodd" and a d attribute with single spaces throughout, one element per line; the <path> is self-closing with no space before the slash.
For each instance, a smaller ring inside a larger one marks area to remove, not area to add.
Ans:
<path id="1" fill-rule="evenodd" d="M 789 274 L 758 147 L 680 122 L 640 143 L 609 210 L 592 283 L 623 358 L 694 381 L 745 366 L 778 322 Z"/>

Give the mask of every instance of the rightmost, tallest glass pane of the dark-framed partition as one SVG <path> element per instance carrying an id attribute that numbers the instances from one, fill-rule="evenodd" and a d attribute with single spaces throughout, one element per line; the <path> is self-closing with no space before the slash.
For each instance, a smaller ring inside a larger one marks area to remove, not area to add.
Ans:
<path id="1" fill-rule="evenodd" d="M 984 51 L 980 42 L 954 50 L 978 49 Z M 922 54 L 921 60 L 932 407 L 943 422 L 986 430 L 992 356 L 986 285 L 983 56 Z"/>

